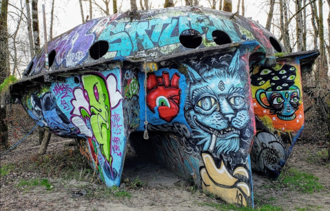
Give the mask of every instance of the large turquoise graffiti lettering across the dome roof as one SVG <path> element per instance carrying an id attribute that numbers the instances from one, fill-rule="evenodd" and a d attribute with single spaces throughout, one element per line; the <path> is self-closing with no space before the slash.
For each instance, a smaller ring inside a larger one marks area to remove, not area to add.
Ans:
<path id="1" fill-rule="evenodd" d="M 226 26 L 226 30 L 235 33 L 231 21 L 223 19 L 224 23 L 219 24 L 218 21 L 214 21 L 209 17 L 207 21 L 201 23 L 198 21 L 199 17 L 200 15 L 196 14 L 191 17 L 168 17 L 167 19 L 151 19 L 150 21 L 110 23 L 101 32 L 99 40 L 108 40 L 110 44 L 109 51 L 117 52 L 117 56 L 125 57 L 130 56 L 132 52 L 145 52 L 146 50 L 158 48 L 158 46 L 163 47 L 178 43 L 178 34 L 174 32 L 176 30 L 182 32 L 192 28 L 198 32 L 203 32 L 203 29 L 205 29 L 207 30 L 205 32 L 206 37 L 212 37 L 214 30 L 217 28 L 223 29 L 223 26 Z M 155 46 L 154 43 L 158 43 L 158 45 Z M 148 54 L 148 56 L 152 55 Z"/>

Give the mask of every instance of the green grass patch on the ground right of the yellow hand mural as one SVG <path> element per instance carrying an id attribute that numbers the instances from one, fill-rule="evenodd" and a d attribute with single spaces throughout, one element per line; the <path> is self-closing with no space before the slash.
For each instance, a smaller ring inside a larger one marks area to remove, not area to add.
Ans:
<path id="1" fill-rule="evenodd" d="M 318 177 L 313 174 L 300 172 L 295 168 L 289 168 L 285 176 L 280 177 L 271 185 L 263 185 L 264 188 L 288 188 L 289 190 L 296 190 L 298 192 L 313 194 L 313 192 L 320 192 L 324 189 L 323 185 L 318 182 Z"/>

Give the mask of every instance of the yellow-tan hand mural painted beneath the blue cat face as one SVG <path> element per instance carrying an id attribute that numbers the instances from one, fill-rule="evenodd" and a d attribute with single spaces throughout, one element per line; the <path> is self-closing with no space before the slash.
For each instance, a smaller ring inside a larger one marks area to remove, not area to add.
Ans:
<path id="1" fill-rule="evenodd" d="M 220 168 L 216 167 L 214 157 L 207 152 L 202 153 L 204 167 L 200 169 L 200 177 L 203 180 L 203 190 L 216 194 L 228 203 L 247 205 L 247 198 L 251 196 L 249 185 L 236 178 L 238 174 L 249 179 L 246 168 L 238 167 L 230 174 L 221 159 Z M 235 177 L 236 176 L 236 177 Z"/>

